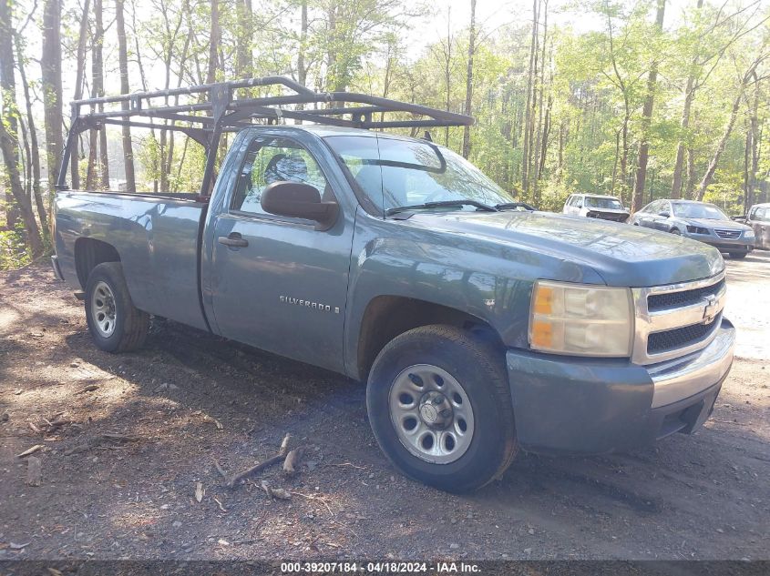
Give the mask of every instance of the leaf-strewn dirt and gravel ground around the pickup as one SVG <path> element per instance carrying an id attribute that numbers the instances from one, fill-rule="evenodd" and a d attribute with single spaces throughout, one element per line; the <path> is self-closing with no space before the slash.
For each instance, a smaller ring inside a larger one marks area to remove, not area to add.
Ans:
<path id="1" fill-rule="evenodd" d="M 393 470 L 353 381 L 166 321 L 140 353 L 110 355 L 46 266 L 5 273 L 0 560 L 770 558 L 770 253 L 727 266 L 737 358 L 701 431 L 524 454 L 470 496 Z M 215 460 L 242 470 L 286 433 L 305 447 L 294 477 L 221 486 Z M 36 445 L 33 487 L 17 455 Z"/>

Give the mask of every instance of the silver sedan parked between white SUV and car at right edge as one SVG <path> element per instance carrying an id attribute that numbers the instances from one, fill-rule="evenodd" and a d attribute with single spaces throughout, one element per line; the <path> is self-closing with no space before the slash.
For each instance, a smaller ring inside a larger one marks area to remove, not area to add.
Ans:
<path id="1" fill-rule="evenodd" d="M 655 200 L 634 214 L 629 224 L 700 240 L 729 253 L 730 258 L 745 258 L 755 247 L 752 227 L 734 222 L 705 202 Z"/>

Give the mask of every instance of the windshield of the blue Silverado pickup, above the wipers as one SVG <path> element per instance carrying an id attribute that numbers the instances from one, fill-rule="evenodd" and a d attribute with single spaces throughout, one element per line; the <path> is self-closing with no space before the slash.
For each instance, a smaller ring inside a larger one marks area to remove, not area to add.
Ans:
<path id="1" fill-rule="evenodd" d="M 447 200 L 473 200 L 488 206 L 512 201 L 477 167 L 445 147 L 386 136 L 327 136 L 326 142 L 382 211 Z"/>

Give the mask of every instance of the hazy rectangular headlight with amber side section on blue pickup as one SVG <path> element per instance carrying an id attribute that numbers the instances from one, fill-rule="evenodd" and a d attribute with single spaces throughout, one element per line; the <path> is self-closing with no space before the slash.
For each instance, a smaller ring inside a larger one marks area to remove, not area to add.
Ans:
<path id="1" fill-rule="evenodd" d="M 529 312 L 532 349 L 573 356 L 631 356 L 630 288 L 538 280 Z"/>

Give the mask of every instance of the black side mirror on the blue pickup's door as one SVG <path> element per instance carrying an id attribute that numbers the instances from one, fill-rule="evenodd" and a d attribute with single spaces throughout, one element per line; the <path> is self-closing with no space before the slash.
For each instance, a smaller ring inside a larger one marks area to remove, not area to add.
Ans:
<path id="1" fill-rule="evenodd" d="M 262 190 L 260 204 L 270 214 L 315 220 L 317 230 L 334 226 L 340 211 L 336 202 L 322 202 L 315 187 L 301 182 L 273 182 Z"/>

